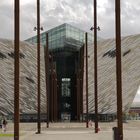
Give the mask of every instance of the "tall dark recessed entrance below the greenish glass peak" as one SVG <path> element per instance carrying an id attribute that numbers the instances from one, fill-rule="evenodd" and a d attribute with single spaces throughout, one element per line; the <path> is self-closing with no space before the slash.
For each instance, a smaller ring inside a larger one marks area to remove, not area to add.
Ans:
<path id="1" fill-rule="evenodd" d="M 80 118 L 80 113 L 82 113 L 81 106 L 83 103 L 82 90 L 79 87 L 82 80 L 78 77 L 79 50 L 62 49 L 61 52 L 55 50 L 52 54 L 58 88 L 56 93 L 50 95 L 50 112 L 52 112 L 52 116 L 57 115 L 56 121 L 77 121 Z M 57 100 L 54 100 L 56 96 Z M 50 116 L 50 120 L 53 120 L 51 118 Z"/>

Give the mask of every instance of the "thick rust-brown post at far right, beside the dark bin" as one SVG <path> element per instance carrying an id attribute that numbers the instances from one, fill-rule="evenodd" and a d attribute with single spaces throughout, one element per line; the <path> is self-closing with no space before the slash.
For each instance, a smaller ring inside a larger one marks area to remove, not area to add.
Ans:
<path id="1" fill-rule="evenodd" d="M 123 140 L 122 120 L 122 71 L 121 71 L 121 12 L 120 0 L 115 0 L 116 9 L 116 77 L 117 77 L 117 125 L 119 140 Z"/>

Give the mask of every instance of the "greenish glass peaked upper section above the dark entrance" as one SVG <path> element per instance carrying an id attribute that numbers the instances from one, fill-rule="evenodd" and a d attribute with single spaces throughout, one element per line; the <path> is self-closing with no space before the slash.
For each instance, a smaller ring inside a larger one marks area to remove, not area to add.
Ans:
<path id="1" fill-rule="evenodd" d="M 46 33 L 49 37 L 49 49 L 60 49 L 68 45 L 81 47 L 85 42 L 85 31 L 67 23 L 57 26 L 41 34 L 41 44 L 46 46 Z M 37 36 L 27 39 L 30 43 L 37 43 Z M 93 43 L 93 34 L 88 33 L 88 43 Z"/>

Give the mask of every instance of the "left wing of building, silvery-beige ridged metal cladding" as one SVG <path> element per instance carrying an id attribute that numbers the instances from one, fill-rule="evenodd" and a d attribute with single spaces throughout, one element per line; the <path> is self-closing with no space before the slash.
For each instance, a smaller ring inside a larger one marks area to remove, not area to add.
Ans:
<path id="1" fill-rule="evenodd" d="M 20 113 L 37 111 L 37 47 L 20 42 Z M 14 42 L 0 39 L 0 114 L 14 112 Z M 41 47 L 41 111 L 45 112 L 44 50 Z"/>

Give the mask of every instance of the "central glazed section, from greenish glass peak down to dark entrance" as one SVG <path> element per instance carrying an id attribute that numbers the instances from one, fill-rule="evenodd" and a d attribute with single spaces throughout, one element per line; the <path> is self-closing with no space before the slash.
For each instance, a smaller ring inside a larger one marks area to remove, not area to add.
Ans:
<path id="1" fill-rule="evenodd" d="M 83 61 L 82 46 L 85 43 L 85 31 L 66 23 L 62 24 L 41 34 L 43 46 L 46 46 L 46 33 L 58 84 L 57 93 L 53 93 L 52 89 L 50 92 L 50 120 L 55 121 L 56 118 L 61 121 L 79 120 L 83 104 L 82 92 L 78 93 L 77 73 Z M 37 37 L 26 41 L 37 43 Z M 88 33 L 88 43 L 93 43 L 93 34 Z M 50 83 L 51 80 L 50 78 Z"/>

